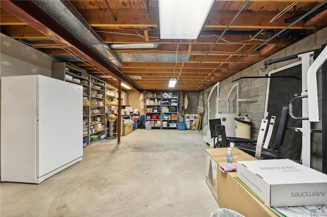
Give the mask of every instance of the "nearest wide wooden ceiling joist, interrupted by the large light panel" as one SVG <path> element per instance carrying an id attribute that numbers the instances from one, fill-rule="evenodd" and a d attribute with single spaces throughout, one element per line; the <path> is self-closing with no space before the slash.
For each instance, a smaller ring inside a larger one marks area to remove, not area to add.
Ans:
<path id="1" fill-rule="evenodd" d="M 147 19 L 145 10 L 119 9 L 113 10 L 117 21 L 114 21 L 108 10 L 104 9 L 80 9 L 79 12 L 92 27 L 105 26 L 107 28 L 154 28 L 158 29 L 157 12 L 151 11 Z M 237 11 L 214 11 L 211 12 L 204 24 L 204 28 L 226 28 Z M 276 15 L 275 11 L 244 11 L 230 25 L 229 29 L 284 29 L 288 23 L 284 22 L 285 17 L 291 16 L 287 12 L 274 22 L 270 22 Z M 133 17 L 133 19 L 131 19 Z M 311 29 L 310 26 L 303 26 L 303 23 L 296 23 L 290 29 Z"/>

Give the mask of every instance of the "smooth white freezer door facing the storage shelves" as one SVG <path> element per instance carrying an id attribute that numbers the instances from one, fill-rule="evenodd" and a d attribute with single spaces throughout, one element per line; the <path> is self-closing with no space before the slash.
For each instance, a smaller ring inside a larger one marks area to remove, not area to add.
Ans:
<path id="1" fill-rule="evenodd" d="M 82 86 L 38 75 L 37 178 L 83 155 Z"/>

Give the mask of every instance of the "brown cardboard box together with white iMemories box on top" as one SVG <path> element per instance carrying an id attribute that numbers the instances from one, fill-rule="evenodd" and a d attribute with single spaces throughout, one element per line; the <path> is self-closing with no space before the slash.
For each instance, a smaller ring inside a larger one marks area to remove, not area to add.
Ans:
<path id="1" fill-rule="evenodd" d="M 237 148 L 237 172 L 222 172 L 227 148 L 206 149 L 206 183 L 221 208 L 276 216 L 271 207 L 327 204 L 327 175 L 289 159 L 257 160 Z"/>

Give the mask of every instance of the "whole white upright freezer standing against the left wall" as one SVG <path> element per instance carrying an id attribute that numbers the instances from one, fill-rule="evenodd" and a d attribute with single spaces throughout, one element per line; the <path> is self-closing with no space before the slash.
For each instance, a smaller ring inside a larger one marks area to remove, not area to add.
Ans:
<path id="1" fill-rule="evenodd" d="M 43 75 L 2 77 L 2 181 L 40 183 L 82 160 L 82 95 Z"/>

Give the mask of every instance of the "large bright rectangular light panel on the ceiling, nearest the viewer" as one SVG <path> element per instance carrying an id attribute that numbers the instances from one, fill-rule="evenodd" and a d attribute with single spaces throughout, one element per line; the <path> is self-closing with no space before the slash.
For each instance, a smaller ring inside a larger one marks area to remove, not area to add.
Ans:
<path id="1" fill-rule="evenodd" d="M 160 39 L 196 40 L 214 0 L 159 0 Z"/>

